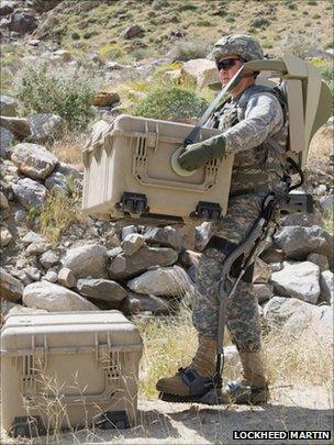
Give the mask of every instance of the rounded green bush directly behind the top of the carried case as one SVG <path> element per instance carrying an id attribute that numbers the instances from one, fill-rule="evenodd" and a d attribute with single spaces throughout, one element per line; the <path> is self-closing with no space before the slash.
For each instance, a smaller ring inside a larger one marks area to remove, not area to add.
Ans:
<path id="1" fill-rule="evenodd" d="M 194 91 L 180 87 L 157 88 L 148 93 L 134 110 L 143 118 L 178 121 L 200 116 L 209 102 Z"/>

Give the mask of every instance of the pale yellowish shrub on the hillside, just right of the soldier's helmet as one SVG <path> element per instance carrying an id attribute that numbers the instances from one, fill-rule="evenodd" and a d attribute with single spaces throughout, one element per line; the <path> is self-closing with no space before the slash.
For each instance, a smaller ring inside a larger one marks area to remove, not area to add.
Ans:
<path id="1" fill-rule="evenodd" d="M 278 46 L 282 53 L 289 52 L 297 57 L 305 58 L 308 53 L 315 49 L 318 45 L 319 36 L 315 32 L 302 34 L 298 31 L 291 31 L 283 34 Z"/>

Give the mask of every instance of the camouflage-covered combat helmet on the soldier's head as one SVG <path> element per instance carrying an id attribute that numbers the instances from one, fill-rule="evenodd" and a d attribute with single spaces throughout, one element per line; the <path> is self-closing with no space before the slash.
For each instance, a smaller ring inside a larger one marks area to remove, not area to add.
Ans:
<path id="1" fill-rule="evenodd" d="M 237 54 L 244 62 L 264 58 L 264 52 L 258 42 L 247 34 L 232 34 L 220 38 L 214 44 L 210 56 L 218 60 L 229 54 Z"/>

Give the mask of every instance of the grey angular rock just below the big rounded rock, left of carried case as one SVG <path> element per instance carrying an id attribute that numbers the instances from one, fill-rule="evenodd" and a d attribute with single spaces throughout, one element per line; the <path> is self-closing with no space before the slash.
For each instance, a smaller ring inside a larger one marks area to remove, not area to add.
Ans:
<path id="1" fill-rule="evenodd" d="M 12 185 L 12 189 L 19 203 L 26 210 L 38 209 L 46 200 L 47 189 L 30 178 L 20 179 Z"/>

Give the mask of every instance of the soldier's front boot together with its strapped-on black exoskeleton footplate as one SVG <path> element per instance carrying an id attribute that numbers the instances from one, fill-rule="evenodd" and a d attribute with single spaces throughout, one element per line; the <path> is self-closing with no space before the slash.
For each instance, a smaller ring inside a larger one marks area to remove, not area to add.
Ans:
<path id="1" fill-rule="evenodd" d="M 179 368 L 175 376 L 157 381 L 156 389 L 160 392 L 160 399 L 170 402 L 199 401 L 213 388 L 215 357 L 215 340 L 200 336 L 198 349 L 189 367 Z"/>

